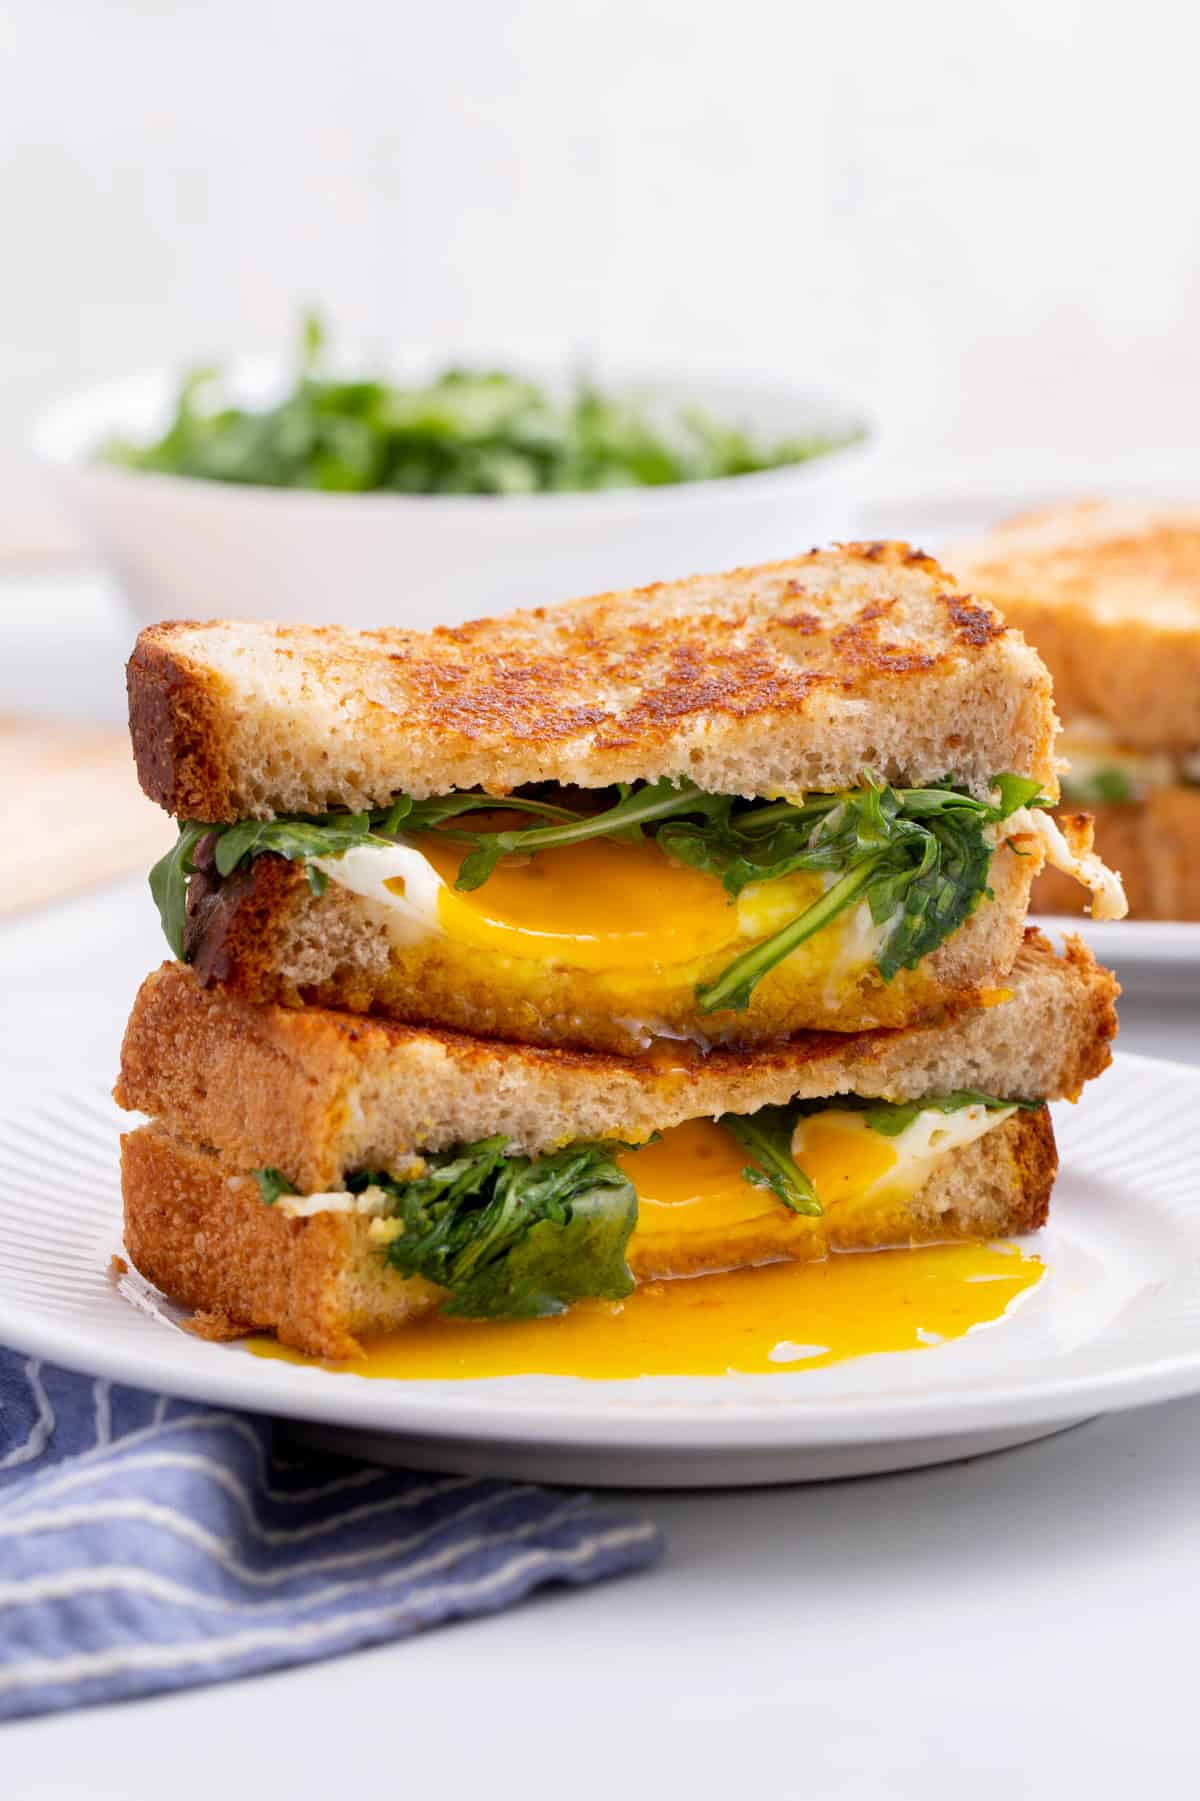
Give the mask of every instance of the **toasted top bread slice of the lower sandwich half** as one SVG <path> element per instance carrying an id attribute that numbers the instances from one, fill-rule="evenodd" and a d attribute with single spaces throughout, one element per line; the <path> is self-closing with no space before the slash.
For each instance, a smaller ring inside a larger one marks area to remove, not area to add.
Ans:
<path id="1" fill-rule="evenodd" d="M 1007 994 L 1007 998 L 1004 998 Z M 813 1032 L 759 1052 L 537 1050 L 321 1009 L 256 1007 L 164 964 L 141 987 L 115 1099 L 232 1167 L 276 1167 L 303 1192 L 505 1133 L 514 1151 L 640 1142 L 688 1118 L 838 1093 L 912 1100 L 957 1088 L 1077 1095 L 1110 1063 L 1117 983 L 1079 940 L 1038 933 L 996 1005 L 903 1032 Z"/>

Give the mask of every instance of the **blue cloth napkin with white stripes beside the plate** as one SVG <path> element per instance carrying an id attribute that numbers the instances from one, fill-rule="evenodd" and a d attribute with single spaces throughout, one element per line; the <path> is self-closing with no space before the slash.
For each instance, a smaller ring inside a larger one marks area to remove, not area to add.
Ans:
<path id="1" fill-rule="evenodd" d="M 659 1551 L 589 1495 L 292 1461 L 265 1419 L 0 1349 L 0 1720 L 312 1662 Z"/>

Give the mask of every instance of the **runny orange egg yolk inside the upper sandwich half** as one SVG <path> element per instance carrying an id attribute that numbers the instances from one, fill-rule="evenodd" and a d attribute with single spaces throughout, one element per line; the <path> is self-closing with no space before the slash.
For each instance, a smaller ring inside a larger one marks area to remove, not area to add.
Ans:
<path id="1" fill-rule="evenodd" d="M 741 937 L 795 919 L 820 893 L 818 877 L 789 877 L 730 900 L 715 875 L 672 863 L 649 839 L 611 837 L 503 857 L 481 888 L 454 888 L 467 846 L 438 832 L 413 837 L 443 881 L 438 924 L 447 938 L 503 956 L 575 969 L 692 964 Z"/>

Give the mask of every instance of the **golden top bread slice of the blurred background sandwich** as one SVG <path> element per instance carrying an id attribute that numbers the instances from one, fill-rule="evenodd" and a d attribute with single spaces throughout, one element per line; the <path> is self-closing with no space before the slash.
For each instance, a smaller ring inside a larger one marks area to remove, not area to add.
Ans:
<path id="1" fill-rule="evenodd" d="M 1132 749 L 1200 746 L 1200 508 L 1047 508 L 948 560 L 1045 657 L 1068 726 L 1105 720 Z"/>

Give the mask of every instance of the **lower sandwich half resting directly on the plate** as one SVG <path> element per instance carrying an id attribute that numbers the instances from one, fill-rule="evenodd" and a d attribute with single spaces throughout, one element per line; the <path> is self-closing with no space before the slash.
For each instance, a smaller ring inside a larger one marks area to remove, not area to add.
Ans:
<path id="1" fill-rule="evenodd" d="M 989 1007 L 757 1052 L 521 1048 L 252 1005 L 168 964 L 117 1100 L 128 1252 L 211 1335 L 353 1356 L 423 1313 L 1045 1221 L 1045 1100 L 1110 1061 L 1115 982 L 1029 935 Z"/>

